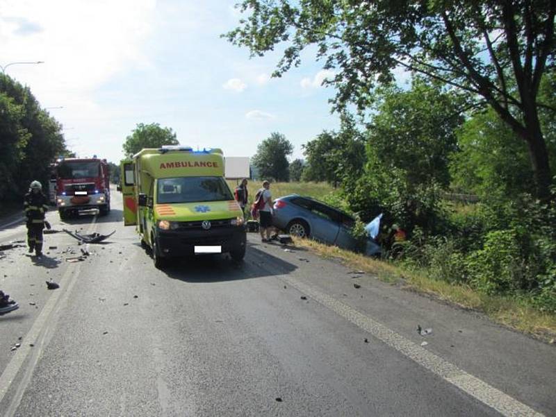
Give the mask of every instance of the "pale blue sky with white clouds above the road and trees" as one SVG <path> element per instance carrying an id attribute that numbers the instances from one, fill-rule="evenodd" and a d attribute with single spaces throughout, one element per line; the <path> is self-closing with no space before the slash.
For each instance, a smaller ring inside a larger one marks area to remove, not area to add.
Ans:
<path id="1" fill-rule="evenodd" d="M 301 145 L 338 127 L 313 51 L 271 79 L 273 53 L 249 59 L 220 38 L 236 26 L 227 0 L 2 0 L 0 65 L 65 127 L 70 148 L 117 162 L 138 123 L 172 128 L 183 145 L 252 156 L 272 132 Z M 63 108 L 58 108 L 63 106 Z"/>

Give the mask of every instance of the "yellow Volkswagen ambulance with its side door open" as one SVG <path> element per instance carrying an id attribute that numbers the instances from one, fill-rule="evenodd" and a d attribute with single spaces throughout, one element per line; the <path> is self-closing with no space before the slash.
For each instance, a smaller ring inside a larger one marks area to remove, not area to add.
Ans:
<path id="1" fill-rule="evenodd" d="M 124 225 L 136 226 L 156 268 L 182 255 L 229 253 L 243 259 L 243 212 L 224 180 L 220 149 L 142 149 L 120 169 Z"/>

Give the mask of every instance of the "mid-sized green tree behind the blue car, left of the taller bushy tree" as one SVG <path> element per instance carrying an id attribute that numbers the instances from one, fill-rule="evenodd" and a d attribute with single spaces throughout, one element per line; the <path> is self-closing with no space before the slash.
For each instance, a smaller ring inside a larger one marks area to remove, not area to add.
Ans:
<path id="1" fill-rule="evenodd" d="M 339 132 L 325 130 L 303 149 L 306 181 L 326 181 L 337 187 L 343 179 L 356 176 L 365 163 L 363 137 L 347 114 L 342 115 Z"/>

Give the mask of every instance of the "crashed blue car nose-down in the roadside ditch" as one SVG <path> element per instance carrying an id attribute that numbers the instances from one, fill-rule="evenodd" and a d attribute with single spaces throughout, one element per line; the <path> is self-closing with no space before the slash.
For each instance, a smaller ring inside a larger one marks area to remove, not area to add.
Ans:
<path id="1" fill-rule="evenodd" d="M 366 228 L 369 232 L 366 255 L 380 253 L 380 246 L 374 241 L 376 235 L 370 237 L 370 230 L 375 230 L 377 219 L 374 222 L 371 222 L 373 228 Z M 274 204 L 272 223 L 275 228 L 284 230 L 292 236 L 311 237 L 322 243 L 348 250 L 357 248 L 357 241 L 351 234 L 355 219 L 314 198 L 297 194 L 277 198 Z"/>

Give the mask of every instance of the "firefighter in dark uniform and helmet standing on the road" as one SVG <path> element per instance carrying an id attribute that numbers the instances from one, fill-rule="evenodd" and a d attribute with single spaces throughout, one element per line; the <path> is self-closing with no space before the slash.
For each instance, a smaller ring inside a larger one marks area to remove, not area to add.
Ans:
<path id="1" fill-rule="evenodd" d="M 40 182 L 33 181 L 29 192 L 25 195 L 24 211 L 27 217 L 27 243 L 29 253 L 42 256 L 42 229 L 44 229 L 44 213 L 48 210 L 48 199 L 42 194 Z"/>

